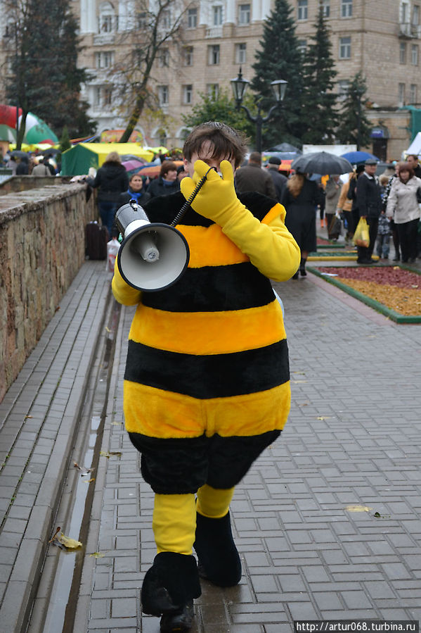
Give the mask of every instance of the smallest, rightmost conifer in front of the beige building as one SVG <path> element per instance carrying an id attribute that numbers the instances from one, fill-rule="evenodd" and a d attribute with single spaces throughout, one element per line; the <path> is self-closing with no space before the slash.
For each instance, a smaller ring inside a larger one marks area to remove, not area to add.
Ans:
<path id="1" fill-rule="evenodd" d="M 340 124 L 336 131 L 340 143 L 356 144 L 357 149 L 370 145 L 370 121 L 364 107 L 368 99 L 365 96 L 367 84 L 361 71 L 354 75 L 349 85 L 340 113 Z"/>

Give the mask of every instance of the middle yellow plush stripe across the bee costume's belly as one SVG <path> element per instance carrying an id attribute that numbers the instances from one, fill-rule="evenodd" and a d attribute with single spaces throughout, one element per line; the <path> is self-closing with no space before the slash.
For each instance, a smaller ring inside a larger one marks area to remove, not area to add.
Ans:
<path id="1" fill-rule="evenodd" d="M 257 349 L 286 338 L 276 299 L 266 306 L 223 312 L 167 312 L 140 304 L 129 333 L 136 343 L 186 354 Z"/>

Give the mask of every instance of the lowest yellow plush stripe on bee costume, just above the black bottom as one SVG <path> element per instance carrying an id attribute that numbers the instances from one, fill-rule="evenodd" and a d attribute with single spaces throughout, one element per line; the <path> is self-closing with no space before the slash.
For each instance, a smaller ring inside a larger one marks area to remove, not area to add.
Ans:
<path id="1" fill-rule="evenodd" d="M 256 394 L 199 400 L 124 381 L 127 431 L 149 437 L 259 435 L 283 429 L 289 412 L 290 382 Z"/>

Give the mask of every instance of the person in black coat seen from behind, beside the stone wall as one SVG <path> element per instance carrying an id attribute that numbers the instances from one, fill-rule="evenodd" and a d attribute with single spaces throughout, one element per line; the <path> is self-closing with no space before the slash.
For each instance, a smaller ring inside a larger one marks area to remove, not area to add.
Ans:
<path id="1" fill-rule="evenodd" d="M 116 151 L 110 152 L 102 167 L 98 169 L 96 177 L 94 179 L 88 178 L 86 182 L 94 189 L 98 187 L 99 214 L 103 226 L 107 227 L 111 234 L 119 203 L 119 194 L 126 192 L 129 188 L 129 176 L 118 153 Z"/>

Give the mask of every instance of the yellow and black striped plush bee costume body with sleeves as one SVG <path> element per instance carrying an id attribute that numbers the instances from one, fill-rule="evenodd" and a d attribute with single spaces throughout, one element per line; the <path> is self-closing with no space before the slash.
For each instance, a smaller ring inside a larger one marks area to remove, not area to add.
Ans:
<path id="1" fill-rule="evenodd" d="M 238 197 L 250 211 L 244 227 L 186 213 L 177 229 L 190 262 L 173 286 L 142 294 L 115 268 L 115 298 L 138 304 L 124 376 L 126 427 L 157 494 L 235 486 L 290 409 L 283 315 L 268 277 L 289 279 L 299 248 L 280 204 Z M 170 224 L 183 202 L 181 193 L 164 196 L 145 211 L 150 222 Z"/>

